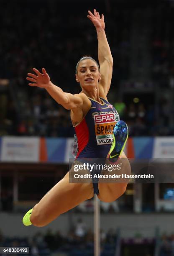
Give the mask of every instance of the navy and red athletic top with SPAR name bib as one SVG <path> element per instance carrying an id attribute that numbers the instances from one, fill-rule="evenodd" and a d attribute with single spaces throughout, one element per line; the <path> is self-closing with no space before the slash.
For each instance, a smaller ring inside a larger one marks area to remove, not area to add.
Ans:
<path id="1" fill-rule="evenodd" d="M 113 142 L 113 129 L 120 120 L 117 110 L 100 97 L 102 104 L 91 101 L 91 108 L 74 126 L 78 142 L 78 158 L 106 158 Z"/>

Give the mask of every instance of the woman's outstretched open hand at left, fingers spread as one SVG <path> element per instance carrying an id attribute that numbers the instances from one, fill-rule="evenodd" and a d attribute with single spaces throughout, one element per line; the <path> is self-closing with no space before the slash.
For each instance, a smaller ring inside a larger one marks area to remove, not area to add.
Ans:
<path id="1" fill-rule="evenodd" d="M 33 71 L 36 74 L 28 73 L 28 77 L 26 78 L 28 81 L 33 82 L 33 84 L 30 83 L 28 85 L 47 88 L 50 85 L 50 77 L 46 73 L 46 70 L 42 68 L 42 73 L 40 73 L 37 69 L 33 68 Z"/>

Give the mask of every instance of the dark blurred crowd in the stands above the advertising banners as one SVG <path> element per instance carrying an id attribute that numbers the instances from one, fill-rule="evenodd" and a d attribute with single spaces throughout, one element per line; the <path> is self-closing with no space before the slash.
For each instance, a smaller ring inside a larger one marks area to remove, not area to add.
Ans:
<path id="1" fill-rule="evenodd" d="M 74 1 L 68 2 L 65 17 L 66 1 L 61 4 L 44 1 L 42 5 L 39 1 L 31 1 L 31 5 L 18 2 L 9 1 L 6 5 L 1 1 L 0 135 L 71 137 L 74 129 L 69 111 L 54 102 L 45 90 L 29 87 L 26 76 L 33 67 L 39 70 L 45 67 L 52 82 L 64 91 L 80 92 L 74 75 L 77 61 L 84 54 L 97 59 L 97 35 L 87 18 L 87 9 L 92 10 L 94 4 L 89 1 L 85 9 L 78 2 L 76 8 Z M 150 54 L 150 77 L 140 83 L 131 79 L 135 8 L 125 7 L 119 1 L 117 4 L 103 1 L 101 6 L 99 11 L 105 14 L 107 39 L 114 59 L 109 101 L 128 123 L 130 136 L 174 135 L 174 7 L 169 2 L 158 6 L 151 3 L 139 10 L 140 15 L 145 10 L 151 20 L 148 50 L 143 53 Z M 134 43 L 138 44 L 138 40 L 141 38 L 137 37 Z M 138 61 L 143 66 L 141 54 Z M 120 94 L 132 88 L 136 94 L 139 85 L 142 94 L 150 88 L 154 100 L 140 97 L 127 101 Z"/>

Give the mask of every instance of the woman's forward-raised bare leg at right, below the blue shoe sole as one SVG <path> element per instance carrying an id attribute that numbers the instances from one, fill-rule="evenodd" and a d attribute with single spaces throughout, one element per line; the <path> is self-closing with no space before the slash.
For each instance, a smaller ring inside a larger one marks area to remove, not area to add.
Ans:
<path id="1" fill-rule="evenodd" d="M 127 157 L 125 156 L 124 152 L 122 152 L 120 158 L 123 159 L 122 168 L 120 172 L 117 172 L 117 174 L 124 173 L 129 175 L 131 172 L 130 163 Z M 110 163 L 110 164 L 114 164 L 114 163 Z M 101 174 L 106 174 L 106 171 L 105 172 L 102 171 Z M 113 174 L 113 172 L 109 174 Z M 102 183 L 102 182 L 100 182 L 100 179 L 99 179 L 99 183 L 98 183 L 99 194 L 97 196 L 101 201 L 104 201 L 104 202 L 113 202 L 116 199 L 118 199 L 118 197 L 124 194 L 128 184 L 128 181 L 126 180 L 125 182 L 122 182 L 122 183 L 118 183 L 117 181 L 114 183 Z"/>

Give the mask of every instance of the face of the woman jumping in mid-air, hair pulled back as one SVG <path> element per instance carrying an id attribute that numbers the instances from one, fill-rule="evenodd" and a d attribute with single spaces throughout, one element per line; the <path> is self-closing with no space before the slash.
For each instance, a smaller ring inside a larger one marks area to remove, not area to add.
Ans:
<path id="1" fill-rule="evenodd" d="M 80 83 L 84 90 L 93 90 L 97 87 L 101 75 L 98 66 L 92 59 L 80 61 L 77 68 L 76 81 Z"/>

